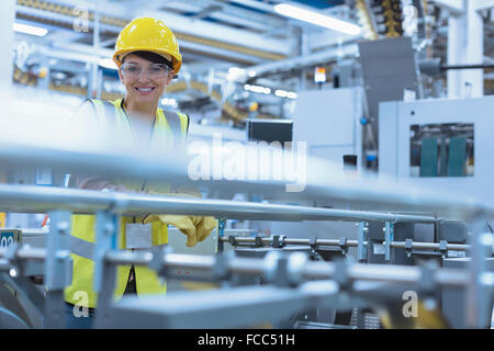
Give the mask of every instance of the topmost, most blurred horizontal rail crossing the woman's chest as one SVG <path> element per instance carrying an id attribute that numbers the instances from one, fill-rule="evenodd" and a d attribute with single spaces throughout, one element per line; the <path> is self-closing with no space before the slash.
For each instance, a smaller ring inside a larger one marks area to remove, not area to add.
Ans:
<path id="1" fill-rule="evenodd" d="M 160 150 L 162 151 L 162 150 Z M 214 148 L 211 148 L 214 152 Z M 238 156 L 242 157 L 242 156 Z M 214 157 L 213 157 L 214 158 Z M 101 154 L 56 148 L 31 147 L 0 143 L 0 163 L 5 169 L 18 167 L 52 167 L 60 172 L 90 173 L 114 179 L 146 179 L 168 183 L 189 183 L 204 186 L 220 194 L 238 192 L 270 195 L 273 199 L 345 201 L 346 203 L 384 205 L 393 208 L 418 208 L 420 212 L 447 212 L 458 218 L 470 218 L 483 212 L 492 217 L 494 206 L 478 202 L 464 194 L 419 189 L 413 184 L 396 183 L 394 179 L 348 177 L 332 163 L 310 158 L 303 191 L 287 192 L 288 181 L 198 180 L 188 173 L 190 155 L 160 152 L 155 155 Z M 248 159 L 242 161 L 247 162 Z M 132 166 L 130 166 L 132 165 Z M 98 173 L 98 174 L 94 174 Z"/>

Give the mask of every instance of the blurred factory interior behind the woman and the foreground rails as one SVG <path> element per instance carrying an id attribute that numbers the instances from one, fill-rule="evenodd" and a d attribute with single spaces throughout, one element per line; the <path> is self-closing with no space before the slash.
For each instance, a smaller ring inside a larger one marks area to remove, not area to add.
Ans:
<path id="1" fill-rule="evenodd" d="M 191 141 L 211 141 L 218 134 L 225 143 L 302 141 L 308 156 L 333 162 L 350 183 L 356 174 L 391 177 L 487 205 L 494 199 L 491 0 L 5 0 L 1 10 L 0 41 L 12 53 L 0 65 L 0 99 L 9 102 L 1 132 L 9 140 L 49 145 L 54 135 L 63 137 L 65 122 L 85 99 L 122 98 L 110 59 L 116 35 L 132 19 L 150 15 L 164 20 L 180 43 L 183 68 L 160 106 L 190 115 Z M 304 11 L 310 15 L 301 18 Z M 311 22 L 314 18 L 322 20 Z M 0 182 L 49 188 L 66 179 L 37 165 L 2 169 Z M 382 210 L 378 201 L 204 194 L 256 204 Z M 40 248 L 50 224 L 45 212 L 0 213 L 0 223 L 5 242 L 22 237 Z M 484 225 L 492 233 L 491 223 Z M 225 237 L 244 238 L 224 242 L 238 254 L 290 250 L 280 241 L 284 235 L 288 241 L 305 240 L 296 250 L 313 259 L 363 261 L 362 228 L 355 222 L 232 218 L 225 226 Z M 459 267 L 468 257 L 462 246 L 470 230 L 461 223 L 397 224 L 388 238 L 384 222 L 369 222 L 367 228 L 368 263 L 416 265 L 428 259 Z M 173 249 L 190 252 L 183 237 L 172 235 Z M 261 247 L 259 238 L 270 241 Z M 314 238 L 330 245 L 322 249 Z M 218 231 L 192 253 L 214 253 L 214 240 Z M 442 306 L 460 298 L 458 292 L 441 294 Z M 345 313 L 322 312 L 325 322 L 357 326 L 358 319 L 362 326 L 361 312 Z M 301 316 L 293 325 L 321 321 Z M 447 318 L 460 327 L 463 317 L 454 312 Z"/>

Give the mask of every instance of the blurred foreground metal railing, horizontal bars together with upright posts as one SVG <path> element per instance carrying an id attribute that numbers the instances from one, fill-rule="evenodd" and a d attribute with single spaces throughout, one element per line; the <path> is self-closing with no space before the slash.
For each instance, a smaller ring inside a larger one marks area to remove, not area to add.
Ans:
<path id="1" fill-rule="evenodd" d="M 214 151 L 214 148 L 212 149 Z M 162 150 L 160 150 L 162 151 Z M 213 157 L 214 158 L 214 157 Z M 119 155 L 100 152 L 80 152 L 65 151 L 55 148 L 26 147 L 14 145 L 12 143 L 0 143 L 0 162 L 4 169 L 16 169 L 18 167 L 49 167 L 58 172 L 90 173 L 92 176 L 104 176 L 115 179 L 146 179 L 148 181 L 167 182 L 173 184 L 184 183 L 190 180 L 188 166 L 190 157 L 179 155 L 179 152 L 160 152 L 160 155 Z M 243 160 L 247 161 L 247 160 Z M 198 181 L 190 182 L 206 188 L 216 194 L 252 193 L 270 195 L 270 199 L 296 199 L 296 200 L 324 200 L 324 201 L 344 201 L 346 204 L 371 204 L 372 206 L 386 206 L 390 212 L 403 212 L 418 210 L 420 213 L 437 214 L 452 217 L 456 219 L 467 219 L 481 223 L 486 218 L 494 217 L 494 205 L 484 204 L 475 199 L 464 196 L 463 194 L 442 193 L 428 189 L 417 189 L 405 182 L 396 183 L 394 179 L 384 181 L 383 179 L 361 179 L 348 177 L 340 169 L 335 169 L 326 162 L 307 160 L 307 173 L 304 189 L 301 192 L 287 192 L 287 181 Z M 98 174 L 94 174 L 94 173 Z M 375 207 L 373 207 L 375 208 Z M 98 213 L 102 220 L 101 225 L 106 225 L 120 215 L 146 215 L 153 214 L 189 214 L 216 216 L 218 218 L 239 218 L 239 219 L 266 219 L 266 220 L 383 220 L 386 227 L 391 227 L 392 222 L 411 220 L 434 223 L 435 216 L 409 216 L 395 215 L 392 213 L 371 213 L 371 212 L 347 212 L 339 210 L 315 208 L 306 206 L 291 206 L 265 203 L 245 203 L 221 200 L 195 200 L 195 199 L 171 199 L 164 196 L 104 193 L 96 191 L 67 190 L 42 186 L 15 186 L 0 185 L 0 210 L 8 212 L 55 212 L 64 217 L 71 213 Z M 61 211 L 63 210 L 63 211 Z M 41 251 L 30 251 L 27 248 L 21 248 L 16 252 L 18 259 L 41 260 L 45 256 L 45 271 L 50 274 L 48 280 L 48 290 L 52 295 L 61 301 L 64 274 L 68 271 L 67 257 L 68 251 L 63 250 L 64 246 L 57 240 L 65 236 L 69 223 L 67 218 L 56 219 L 60 224 L 59 228 L 54 229 L 48 238 L 52 237 L 52 248 L 49 254 Z M 101 222 L 101 223 L 100 223 Z M 61 225 L 63 224 L 63 225 Z M 54 226 L 55 227 L 55 226 Z M 104 227 L 105 228 L 105 227 Z M 106 229 L 105 229 L 106 230 Z M 110 298 L 112 291 L 110 284 L 100 290 L 100 285 L 106 282 L 104 273 L 108 265 L 113 262 L 127 262 L 133 264 L 157 263 L 156 257 L 150 252 L 117 252 L 112 251 L 111 236 L 115 233 L 111 230 L 97 230 L 101 234 L 102 240 L 98 241 L 99 257 L 96 261 L 96 284 L 103 296 L 101 302 Z M 58 233 L 59 231 L 59 233 Z M 58 234 L 57 234 L 58 233 Z M 63 233 L 65 233 L 63 235 Z M 386 235 L 390 230 L 386 231 Z M 108 238 L 104 238 L 106 236 Z M 66 236 L 65 236 L 66 237 Z M 468 310 L 471 315 L 468 318 L 469 326 L 479 326 L 482 308 L 485 301 L 481 298 L 485 287 L 485 275 L 492 273 L 484 268 L 483 250 L 485 240 L 481 240 L 482 228 L 479 225 L 474 230 L 471 244 L 472 269 L 468 270 L 445 270 L 434 271 L 422 270 L 415 267 L 392 267 L 374 264 L 335 264 L 326 262 L 312 262 L 295 264 L 290 268 L 291 279 L 336 279 L 341 280 L 345 276 L 348 280 L 371 280 L 371 281 L 392 281 L 397 283 L 423 284 L 424 280 L 434 280 L 437 284 L 467 286 L 470 297 Z M 492 237 L 492 235 L 491 235 Z M 391 246 L 391 240 L 386 239 L 386 245 Z M 491 245 L 489 245 L 491 249 Z M 25 250 L 25 251 L 24 251 Z M 104 254 L 103 254 L 104 253 Z M 60 260 L 58 259 L 60 258 Z M 65 260 L 65 261 L 64 261 Z M 60 262 L 58 262 L 60 261 Z M 61 262 L 64 261 L 64 262 Z M 58 264 L 58 263 L 60 264 Z M 262 263 L 263 262 L 263 263 Z M 48 264 L 49 263 L 49 264 Z M 158 262 L 164 269 L 168 267 L 194 267 L 197 269 L 211 270 L 220 263 L 218 258 L 183 260 L 177 256 L 164 256 L 164 260 Z M 269 265 L 266 261 L 238 261 L 238 259 L 228 260 L 226 268 L 231 272 L 246 272 L 251 274 L 270 273 L 277 265 Z M 293 263 L 293 262 L 292 262 Z M 295 262 L 296 263 L 296 262 Z M 292 264 L 293 265 L 293 264 Z M 262 269 L 263 267 L 263 269 Z M 280 271 L 282 272 L 282 270 Z M 58 274 L 58 275 L 57 275 Z M 269 274 L 268 274 L 269 275 Z M 480 276 L 482 275 L 482 280 Z M 108 288 L 106 288 L 108 287 Z M 55 297 L 54 297 L 55 298 Z M 55 302 L 55 299 L 54 299 Z M 49 304 L 48 304 L 49 305 Z M 61 305 L 61 303 L 60 303 Z M 103 306 L 103 305 L 102 305 Z M 105 308 L 100 306 L 100 308 Z M 58 316 L 49 308 L 46 316 Z M 54 318 L 55 320 L 56 318 Z M 58 318 L 59 319 L 59 318 Z M 56 322 L 61 322 L 55 320 Z M 55 326 L 56 324 L 54 324 Z"/>

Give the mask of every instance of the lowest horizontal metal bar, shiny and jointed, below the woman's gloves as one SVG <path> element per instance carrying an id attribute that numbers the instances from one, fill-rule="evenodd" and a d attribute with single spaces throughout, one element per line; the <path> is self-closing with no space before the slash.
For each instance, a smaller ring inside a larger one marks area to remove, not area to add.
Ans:
<path id="1" fill-rule="evenodd" d="M 0 258 L 5 256 L 7 250 L 0 250 Z M 20 248 L 18 258 L 21 260 L 40 260 L 46 257 L 45 249 Z M 361 264 L 349 263 L 338 265 L 332 262 L 312 262 L 300 260 L 300 256 L 289 254 L 289 275 L 293 281 L 327 280 L 337 279 L 345 274 L 350 281 L 375 281 L 403 284 L 419 284 L 425 276 L 418 267 L 389 265 L 389 264 Z M 111 264 L 137 264 L 149 265 L 156 259 L 151 252 L 133 251 L 109 251 L 104 257 Z M 272 258 L 228 258 L 218 260 L 215 256 L 193 256 L 179 253 L 164 253 L 159 265 L 164 269 L 190 269 L 213 273 L 217 264 L 225 264 L 227 272 L 233 274 L 265 274 L 276 275 L 276 264 Z M 433 272 L 434 283 L 442 286 L 467 286 L 470 282 L 469 272 L 458 269 L 438 268 Z"/>

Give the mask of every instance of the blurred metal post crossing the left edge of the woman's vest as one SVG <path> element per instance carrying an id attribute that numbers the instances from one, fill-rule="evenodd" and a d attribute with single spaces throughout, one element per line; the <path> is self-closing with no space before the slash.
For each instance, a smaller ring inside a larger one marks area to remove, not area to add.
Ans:
<path id="1" fill-rule="evenodd" d="M 64 288 L 71 282 L 70 212 L 54 211 L 46 238 L 44 328 L 65 328 Z"/>

